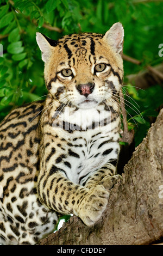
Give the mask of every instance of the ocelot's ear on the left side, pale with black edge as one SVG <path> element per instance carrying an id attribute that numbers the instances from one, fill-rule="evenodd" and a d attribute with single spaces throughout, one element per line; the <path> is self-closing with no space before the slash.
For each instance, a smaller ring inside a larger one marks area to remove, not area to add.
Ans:
<path id="1" fill-rule="evenodd" d="M 39 32 L 36 33 L 36 41 L 41 50 L 43 62 L 47 62 L 49 57 L 51 57 L 53 47 L 58 44 L 57 41 L 52 40 Z"/>

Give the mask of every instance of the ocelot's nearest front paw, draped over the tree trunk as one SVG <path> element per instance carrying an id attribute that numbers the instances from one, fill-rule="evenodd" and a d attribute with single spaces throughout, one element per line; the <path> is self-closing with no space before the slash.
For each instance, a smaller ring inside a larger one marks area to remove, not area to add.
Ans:
<path id="1" fill-rule="evenodd" d="M 79 212 L 79 217 L 87 226 L 90 227 L 101 218 L 108 204 L 108 198 L 109 192 L 102 185 L 97 185 L 95 188 L 90 189 L 81 204 Z"/>

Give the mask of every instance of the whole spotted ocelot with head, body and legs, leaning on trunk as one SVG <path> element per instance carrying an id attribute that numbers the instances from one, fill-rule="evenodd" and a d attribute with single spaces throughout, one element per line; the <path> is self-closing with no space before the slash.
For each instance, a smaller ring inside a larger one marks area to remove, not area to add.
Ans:
<path id="1" fill-rule="evenodd" d="M 123 28 L 54 41 L 37 33 L 48 96 L 0 125 L 0 243 L 33 245 L 61 214 L 91 226 L 115 184 Z"/>

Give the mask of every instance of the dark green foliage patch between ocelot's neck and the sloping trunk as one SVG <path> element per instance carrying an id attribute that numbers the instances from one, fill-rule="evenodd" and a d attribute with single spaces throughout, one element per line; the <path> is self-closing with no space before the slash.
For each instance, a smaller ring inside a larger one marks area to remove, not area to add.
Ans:
<path id="1" fill-rule="evenodd" d="M 135 147 L 146 137 L 147 131 L 158 115 L 163 102 L 163 88 L 156 85 L 146 90 L 136 90 L 128 84 L 123 87 L 128 128 L 135 130 Z"/>

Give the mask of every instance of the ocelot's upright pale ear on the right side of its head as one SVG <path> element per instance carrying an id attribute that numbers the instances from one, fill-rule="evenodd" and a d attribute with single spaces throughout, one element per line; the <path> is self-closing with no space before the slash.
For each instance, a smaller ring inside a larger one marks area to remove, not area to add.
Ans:
<path id="1" fill-rule="evenodd" d="M 114 48 L 117 53 L 121 53 L 123 49 L 124 29 L 120 22 L 115 23 L 104 35 L 108 44 Z"/>

